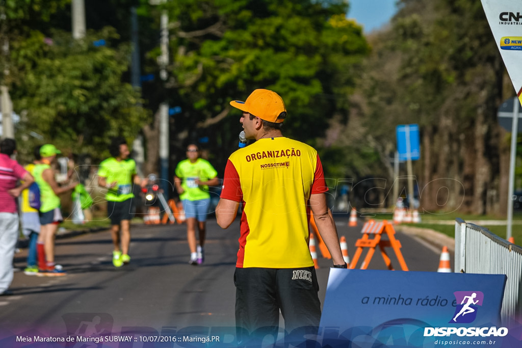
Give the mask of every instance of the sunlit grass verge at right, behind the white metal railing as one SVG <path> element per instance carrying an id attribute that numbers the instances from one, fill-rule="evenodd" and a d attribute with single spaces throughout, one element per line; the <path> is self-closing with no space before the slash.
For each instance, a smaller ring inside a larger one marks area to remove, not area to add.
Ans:
<path id="1" fill-rule="evenodd" d="M 411 224 L 411 226 L 418 227 L 421 229 L 430 229 L 452 238 L 455 237 L 455 219 L 460 218 L 466 222 L 471 222 L 479 226 L 485 227 L 501 238 L 506 238 L 507 225 L 505 223 L 500 224 L 488 224 L 487 220 L 504 222 L 505 217 L 499 217 L 494 215 L 471 215 L 461 214 L 458 212 L 444 213 L 444 214 L 421 214 L 421 223 Z M 393 221 L 393 214 L 378 213 L 375 214 L 374 219 Z M 522 243 L 522 212 L 517 211 L 513 213 L 513 224 L 512 224 L 512 236 L 515 238 L 515 243 Z"/>

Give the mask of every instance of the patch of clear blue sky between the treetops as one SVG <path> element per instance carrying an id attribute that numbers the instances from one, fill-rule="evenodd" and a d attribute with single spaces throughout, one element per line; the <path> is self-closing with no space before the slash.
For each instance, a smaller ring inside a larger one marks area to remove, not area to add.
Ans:
<path id="1" fill-rule="evenodd" d="M 369 33 L 385 25 L 396 12 L 396 0 L 349 0 L 348 18 L 363 26 L 364 33 Z"/>

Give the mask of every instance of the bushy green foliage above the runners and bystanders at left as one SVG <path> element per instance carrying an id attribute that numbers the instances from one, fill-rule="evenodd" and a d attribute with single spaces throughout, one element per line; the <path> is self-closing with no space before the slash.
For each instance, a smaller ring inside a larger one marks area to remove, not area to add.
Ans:
<path id="1" fill-rule="evenodd" d="M 93 45 L 100 39 L 108 45 Z M 34 131 L 62 149 L 103 157 L 110 137 L 137 135 L 148 113 L 138 92 L 122 82 L 129 46 L 113 48 L 115 39 L 114 29 L 105 28 L 76 41 L 69 33 L 46 39 L 32 32 L 12 44 L 11 98 L 23 116 L 22 144 Z"/>

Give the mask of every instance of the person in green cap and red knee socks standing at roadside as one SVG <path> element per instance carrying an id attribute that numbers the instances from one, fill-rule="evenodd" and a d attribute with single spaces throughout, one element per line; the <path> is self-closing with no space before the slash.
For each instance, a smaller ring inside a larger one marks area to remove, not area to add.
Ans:
<path id="1" fill-rule="evenodd" d="M 54 178 L 54 170 L 51 164 L 56 155 L 62 153 L 52 144 L 42 145 L 40 148 L 41 162 L 34 165 L 34 181 L 40 188 L 40 234 L 37 241 L 38 275 L 54 277 L 65 275 L 61 267 L 54 263 L 54 237 L 58 225 L 63 221 L 60 210 L 61 202 L 58 195 L 74 189 L 78 182 L 74 181 L 66 186 L 60 187 Z"/>

